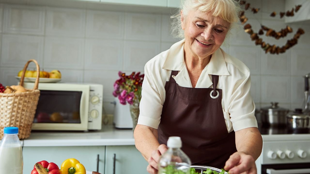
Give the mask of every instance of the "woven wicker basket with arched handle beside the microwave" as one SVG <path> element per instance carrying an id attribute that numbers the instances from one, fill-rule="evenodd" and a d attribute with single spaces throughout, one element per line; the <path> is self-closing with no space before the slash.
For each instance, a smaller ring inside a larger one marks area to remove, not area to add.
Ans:
<path id="1" fill-rule="evenodd" d="M 24 76 L 30 62 L 34 62 L 37 66 L 37 79 L 33 89 L 26 89 L 26 92 L 21 93 L 0 93 L 0 139 L 3 137 L 3 129 L 8 126 L 19 128 L 18 137 L 20 139 L 30 136 L 40 96 L 38 90 L 40 67 L 36 60 L 31 59 L 25 64 L 19 83 L 24 86 Z"/>

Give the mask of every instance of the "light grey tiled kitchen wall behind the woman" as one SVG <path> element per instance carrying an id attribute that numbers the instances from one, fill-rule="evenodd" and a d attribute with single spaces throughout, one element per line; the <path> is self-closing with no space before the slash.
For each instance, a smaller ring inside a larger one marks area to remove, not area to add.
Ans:
<path id="1" fill-rule="evenodd" d="M 255 32 L 260 23 L 275 30 L 286 27 L 283 19 L 269 17 L 272 11 L 284 11 L 283 0 L 247 2 L 260 8 L 255 15 L 246 12 Z M 242 28 L 232 29 L 222 46 L 251 70 L 251 94 L 257 109 L 271 101 L 290 109 L 302 105 L 302 76 L 310 72 L 310 26 L 290 26 L 293 33 L 285 38 L 262 36 L 264 41 L 282 46 L 302 27 L 306 34 L 284 54 L 265 54 Z M 143 72 L 149 59 L 177 41 L 170 35 L 170 15 L 11 4 L 0 5 L 0 31 L 1 83 L 15 85 L 17 72 L 26 61 L 36 59 L 41 69 L 59 69 L 62 82 L 103 84 L 108 114 L 114 109 L 117 72 Z"/>

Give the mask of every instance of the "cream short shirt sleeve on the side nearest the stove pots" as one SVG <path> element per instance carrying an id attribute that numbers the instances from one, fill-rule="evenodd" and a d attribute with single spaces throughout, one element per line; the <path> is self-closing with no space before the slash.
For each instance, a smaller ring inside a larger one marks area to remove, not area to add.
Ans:
<path id="1" fill-rule="evenodd" d="M 255 103 L 250 94 L 250 71 L 235 85 L 228 105 L 230 121 L 234 131 L 258 127 L 255 118 Z"/>

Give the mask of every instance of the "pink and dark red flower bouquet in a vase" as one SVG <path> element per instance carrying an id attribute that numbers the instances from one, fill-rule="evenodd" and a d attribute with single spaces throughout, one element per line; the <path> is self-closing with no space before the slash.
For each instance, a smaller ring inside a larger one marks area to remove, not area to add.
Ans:
<path id="1" fill-rule="evenodd" d="M 132 129 L 134 130 L 138 123 L 140 113 L 139 103 L 141 100 L 144 74 L 132 72 L 131 75 L 126 76 L 125 73 L 119 71 L 118 76 L 120 78 L 113 85 L 113 96 L 118 97 L 119 102 L 123 105 L 126 105 L 126 103 L 130 104 L 130 113 L 133 121 Z"/>

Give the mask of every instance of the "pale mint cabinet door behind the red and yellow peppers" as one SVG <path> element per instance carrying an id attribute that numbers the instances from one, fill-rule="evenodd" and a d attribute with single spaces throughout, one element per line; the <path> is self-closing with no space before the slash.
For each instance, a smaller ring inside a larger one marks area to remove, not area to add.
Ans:
<path id="1" fill-rule="evenodd" d="M 60 167 L 61 163 L 68 158 L 78 159 L 87 171 L 96 171 L 98 154 L 99 172 L 103 174 L 105 146 L 23 147 L 23 173 L 30 173 L 34 164 L 39 161 L 46 160 L 56 163 Z"/>

